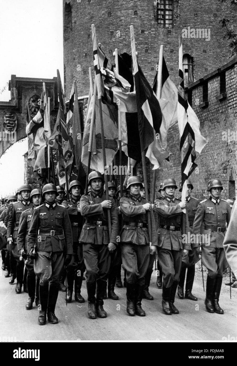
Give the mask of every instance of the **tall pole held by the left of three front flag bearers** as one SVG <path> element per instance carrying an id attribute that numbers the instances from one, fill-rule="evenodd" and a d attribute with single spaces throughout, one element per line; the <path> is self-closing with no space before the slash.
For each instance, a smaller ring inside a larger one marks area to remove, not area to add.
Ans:
<path id="1" fill-rule="evenodd" d="M 96 41 L 96 27 L 94 24 L 92 24 L 92 39 L 93 39 L 93 53 L 97 52 L 97 41 Z M 95 57 L 94 57 L 95 58 Z M 98 62 L 98 64 L 97 64 Z M 94 66 L 95 71 L 96 67 L 100 67 L 98 58 L 97 60 L 94 60 Z M 100 70 L 97 70 L 97 72 L 100 72 Z M 100 114 L 100 128 L 101 128 L 101 145 L 102 145 L 102 154 L 103 154 L 103 161 L 104 161 L 104 168 L 106 167 L 106 154 L 105 154 L 105 136 L 104 136 L 104 124 L 103 124 L 103 116 L 102 116 L 102 105 L 101 105 L 101 80 L 100 80 L 100 73 L 95 75 L 95 81 L 97 84 L 98 89 L 98 104 L 99 104 L 99 114 Z M 105 182 L 105 193 L 106 193 L 106 199 L 109 200 L 109 191 L 108 191 L 108 177 L 106 174 L 104 174 L 104 182 Z M 107 210 L 108 213 L 108 227 L 109 227 L 109 240 L 111 236 L 111 216 L 110 216 L 110 210 Z"/>

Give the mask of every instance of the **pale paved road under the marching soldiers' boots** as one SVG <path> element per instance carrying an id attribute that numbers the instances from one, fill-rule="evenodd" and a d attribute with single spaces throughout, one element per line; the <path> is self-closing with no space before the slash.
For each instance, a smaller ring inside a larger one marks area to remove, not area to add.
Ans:
<path id="1" fill-rule="evenodd" d="M 205 274 L 206 278 L 206 274 Z M 205 310 L 205 293 L 202 288 L 201 273 L 195 276 L 193 293 L 199 301 L 180 300 L 175 305 L 179 315 L 162 313 L 161 295 L 155 285 L 155 271 L 152 275 L 150 292 L 154 301 L 143 300 L 146 317 L 129 317 L 126 313 L 125 288 L 116 288 L 119 300 L 105 300 L 106 319 L 92 320 L 87 317 L 87 302 L 73 301 L 66 307 L 65 292 L 59 292 L 56 315 L 59 324 L 38 325 L 38 310 L 25 309 L 27 294 L 17 295 L 15 284 L 9 285 L 0 274 L 0 337 L 16 337 L 16 340 L 222 340 L 222 337 L 236 337 L 237 290 L 223 286 L 220 305 L 225 314 L 209 314 Z M 85 281 L 82 295 L 86 298 Z M 1 339 L 1 338 L 0 338 Z"/>

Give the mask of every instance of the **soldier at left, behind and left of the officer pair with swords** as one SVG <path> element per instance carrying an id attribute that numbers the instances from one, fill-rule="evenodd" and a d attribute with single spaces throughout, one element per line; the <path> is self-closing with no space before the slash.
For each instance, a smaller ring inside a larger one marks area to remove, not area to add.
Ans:
<path id="1" fill-rule="evenodd" d="M 24 276 L 24 261 L 20 261 L 20 254 L 17 248 L 17 235 L 19 228 L 20 215 L 23 211 L 33 207 L 30 202 L 31 186 L 23 184 L 19 188 L 19 194 L 22 197 L 22 202 L 13 202 L 8 209 L 8 223 L 7 223 L 7 243 L 11 250 L 13 257 L 16 259 L 16 293 L 22 292 L 23 276 Z M 9 282 L 10 283 L 10 282 Z"/>

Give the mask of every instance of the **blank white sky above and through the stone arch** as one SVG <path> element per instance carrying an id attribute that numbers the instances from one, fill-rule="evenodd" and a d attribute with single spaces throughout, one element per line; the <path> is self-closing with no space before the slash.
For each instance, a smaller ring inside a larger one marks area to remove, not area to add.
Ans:
<path id="1" fill-rule="evenodd" d="M 11 96 L 11 75 L 53 78 L 63 82 L 63 18 L 61 0 L 0 0 L 0 101 Z M 14 144 L 0 158 L 0 197 L 24 182 L 27 141 Z"/>

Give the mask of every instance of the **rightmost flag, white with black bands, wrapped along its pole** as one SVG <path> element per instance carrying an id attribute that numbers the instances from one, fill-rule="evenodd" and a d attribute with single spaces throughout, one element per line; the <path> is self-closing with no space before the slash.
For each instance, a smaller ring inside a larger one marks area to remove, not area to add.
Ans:
<path id="1" fill-rule="evenodd" d="M 200 154 L 207 140 L 200 133 L 200 121 L 190 107 L 184 91 L 183 47 L 181 42 L 179 46 L 178 127 L 181 154 L 181 184 L 183 186 L 184 182 L 197 167 L 195 163 L 196 151 Z"/>

